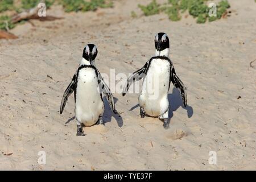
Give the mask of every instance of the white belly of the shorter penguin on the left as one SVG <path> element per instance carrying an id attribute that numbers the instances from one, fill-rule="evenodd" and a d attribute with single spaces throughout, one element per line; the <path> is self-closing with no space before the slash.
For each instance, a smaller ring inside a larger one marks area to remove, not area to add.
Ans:
<path id="1" fill-rule="evenodd" d="M 92 126 L 104 112 L 97 76 L 94 69 L 82 68 L 77 79 L 76 118 L 85 126 Z"/>

